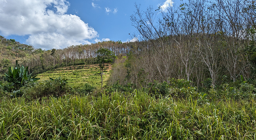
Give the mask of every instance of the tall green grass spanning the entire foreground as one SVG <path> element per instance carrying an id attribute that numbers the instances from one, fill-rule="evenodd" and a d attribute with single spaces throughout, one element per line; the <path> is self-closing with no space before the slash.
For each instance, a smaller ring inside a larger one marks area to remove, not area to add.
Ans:
<path id="1" fill-rule="evenodd" d="M 143 91 L 0 99 L 3 140 L 256 139 L 256 102 L 198 104 Z"/>

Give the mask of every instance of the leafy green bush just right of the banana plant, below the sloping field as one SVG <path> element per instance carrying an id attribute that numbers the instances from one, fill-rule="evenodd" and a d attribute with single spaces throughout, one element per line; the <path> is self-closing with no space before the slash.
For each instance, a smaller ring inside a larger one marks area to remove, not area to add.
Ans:
<path id="1" fill-rule="evenodd" d="M 74 90 L 67 84 L 67 79 L 57 78 L 43 82 L 28 84 L 20 89 L 27 99 L 42 98 L 44 96 L 60 97 L 64 94 L 74 94 Z"/>

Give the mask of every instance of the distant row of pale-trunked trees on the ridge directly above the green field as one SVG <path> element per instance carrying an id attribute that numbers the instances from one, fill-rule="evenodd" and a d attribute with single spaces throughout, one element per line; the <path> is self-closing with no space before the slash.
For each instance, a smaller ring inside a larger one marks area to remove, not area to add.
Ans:
<path id="1" fill-rule="evenodd" d="M 33 58 L 28 58 L 22 64 L 30 66 L 35 73 L 44 72 L 63 66 L 72 66 L 79 64 L 95 64 L 97 50 L 106 48 L 115 53 L 115 55 L 126 55 L 129 51 L 128 43 L 119 43 L 108 41 L 98 42 L 91 45 L 76 45 L 69 46 L 64 49 L 52 49 L 44 51 L 40 55 L 35 55 Z"/>

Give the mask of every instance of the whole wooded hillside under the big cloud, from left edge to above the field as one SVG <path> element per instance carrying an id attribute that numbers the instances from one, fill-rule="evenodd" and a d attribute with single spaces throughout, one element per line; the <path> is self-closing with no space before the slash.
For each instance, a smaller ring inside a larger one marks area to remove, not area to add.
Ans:
<path id="1" fill-rule="evenodd" d="M 69 46 L 64 49 L 42 50 L 0 36 L 0 79 L 9 66 L 15 65 L 16 60 L 19 64 L 29 66 L 30 73 L 39 74 L 67 66 L 96 64 L 96 51 L 100 48 L 107 48 L 116 56 L 126 56 L 131 45 L 132 43 L 107 41 Z"/>

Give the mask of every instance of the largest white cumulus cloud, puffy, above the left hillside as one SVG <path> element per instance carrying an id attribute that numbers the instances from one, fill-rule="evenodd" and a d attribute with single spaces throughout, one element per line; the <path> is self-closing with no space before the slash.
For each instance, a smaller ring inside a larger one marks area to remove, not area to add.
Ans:
<path id="1" fill-rule="evenodd" d="M 80 17 L 65 14 L 69 5 L 66 0 L 0 0 L 0 32 L 28 35 L 28 44 L 46 50 L 90 44 L 87 40 L 98 33 Z"/>

